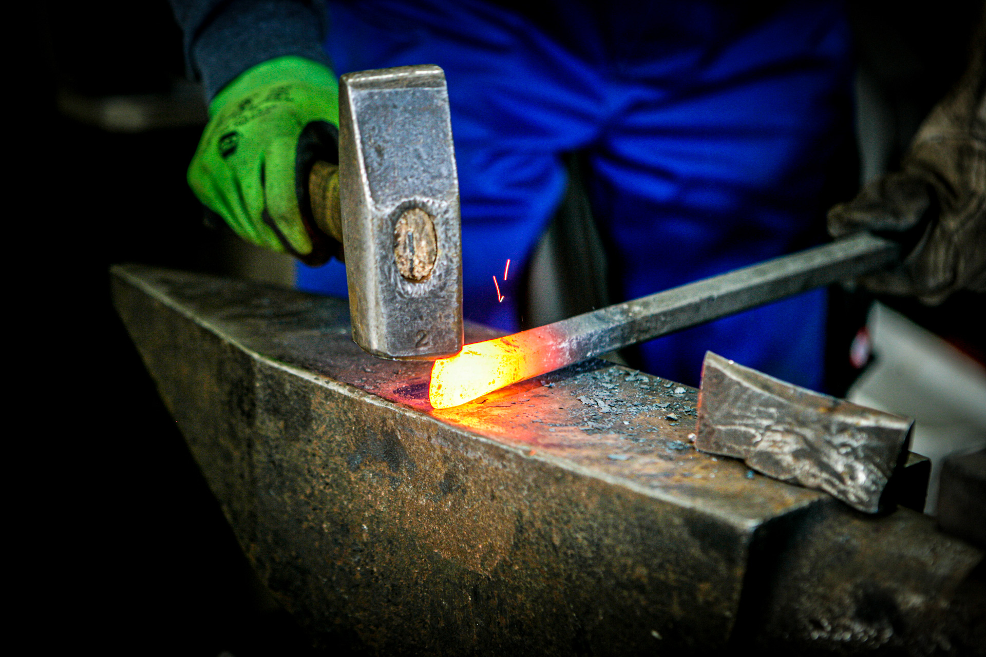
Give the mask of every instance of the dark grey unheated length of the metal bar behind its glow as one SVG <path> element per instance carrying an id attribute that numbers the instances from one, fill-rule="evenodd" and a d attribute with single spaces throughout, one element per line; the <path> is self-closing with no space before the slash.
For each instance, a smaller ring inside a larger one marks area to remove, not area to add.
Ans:
<path id="1" fill-rule="evenodd" d="M 898 254 L 895 242 L 860 233 L 532 330 L 550 327 L 567 343 L 569 363 L 582 361 L 868 274 L 894 262 Z"/>

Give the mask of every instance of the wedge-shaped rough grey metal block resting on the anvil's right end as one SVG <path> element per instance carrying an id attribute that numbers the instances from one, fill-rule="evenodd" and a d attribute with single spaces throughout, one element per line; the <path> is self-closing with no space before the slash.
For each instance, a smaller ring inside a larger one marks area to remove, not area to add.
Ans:
<path id="1" fill-rule="evenodd" d="M 812 392 L 705 353 L 695 447 L 876 513 L 907 461 L 909 418 Z"/>

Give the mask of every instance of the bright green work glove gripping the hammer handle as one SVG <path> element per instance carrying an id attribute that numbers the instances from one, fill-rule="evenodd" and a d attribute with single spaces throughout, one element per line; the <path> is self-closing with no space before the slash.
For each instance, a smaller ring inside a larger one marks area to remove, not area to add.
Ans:
<path id="1" fill-rule="evenodd" d="M 211 117 L 188 166 L 195 196 L 246 240 L 321 264 L 337 243 L 317 230 L 308 172 L 336 162 L 338 83 L 302 57 L 248 69 L 209 105 Z"/>

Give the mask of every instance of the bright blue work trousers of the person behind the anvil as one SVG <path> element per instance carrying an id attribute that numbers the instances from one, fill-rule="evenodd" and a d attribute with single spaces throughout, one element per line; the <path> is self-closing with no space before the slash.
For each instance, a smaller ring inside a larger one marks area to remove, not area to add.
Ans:
<path id="1" fill-rule="evenodd" d="M 804 247 L 851 110 L 839 3 L 559 2 L 541 28 L 479 0 L 331 3 L 335 71 L 445 69 L 462 208 L 464 312 L 518 327 L 518 284 L 585 152 L 599 230 L 624 298 Z M 738 9 L 739 7 L 739 9 Z M 492 277 L 510 258 L 498 302 Z M 338 263 L 298 287 L 344 296 Z M 536 299 L 533 299 L 536 302 Z M 643 346 L 646 368 L 696 383 L 706 350 L 821 385 L 825 294 L 816 291 Z"/>

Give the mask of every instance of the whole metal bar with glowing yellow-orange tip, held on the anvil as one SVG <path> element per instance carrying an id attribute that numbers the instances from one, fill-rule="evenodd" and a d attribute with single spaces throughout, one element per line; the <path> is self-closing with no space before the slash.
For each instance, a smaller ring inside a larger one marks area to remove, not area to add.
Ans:
<path id="1" fill-rule="evenodd" d="M 467 345 L 435 361 L 435 408 L 741 310 L 855 278 L 894 262 L 895 242 L 861 233 L 805 251 L 610 305 L 505 338 Z"/>

